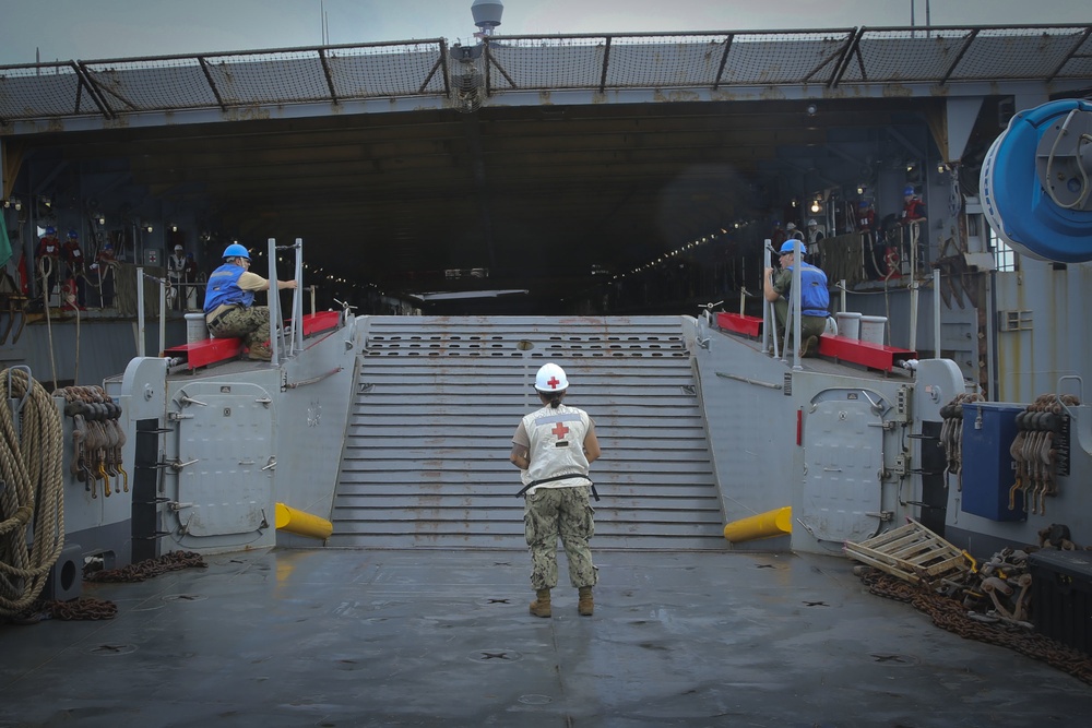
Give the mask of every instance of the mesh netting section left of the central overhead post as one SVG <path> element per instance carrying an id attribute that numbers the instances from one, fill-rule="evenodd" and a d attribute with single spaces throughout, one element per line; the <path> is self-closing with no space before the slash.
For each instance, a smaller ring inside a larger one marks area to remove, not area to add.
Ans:
<path id="1" fill-rule="evenodd" d="M 443 40 L 0 68 L 0 119 L 446 96 Z"/>

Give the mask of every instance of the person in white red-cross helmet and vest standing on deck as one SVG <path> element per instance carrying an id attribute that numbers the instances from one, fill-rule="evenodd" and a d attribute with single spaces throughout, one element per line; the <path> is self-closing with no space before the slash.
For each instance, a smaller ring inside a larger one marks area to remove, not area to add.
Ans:
<path id="1" fill-rule="evenodd" d="M 583 409 L 561 404 L 569 387 L 556 363 L 543 365 L 535 390 L 544 407 L 520 420 L 509 460 L 522 470 L 526 496 L 523 522 L 531 549 L 531 613 L 550 616 L 550 589 L 557 586 L 557 538 L 569 561 L 569 581 L 579 590 L 577 611 L 590 617 L 592 587 L 598 578 L 589 539 L 595 533 L 587 466 L 600 456 L 595 422 Z"/>

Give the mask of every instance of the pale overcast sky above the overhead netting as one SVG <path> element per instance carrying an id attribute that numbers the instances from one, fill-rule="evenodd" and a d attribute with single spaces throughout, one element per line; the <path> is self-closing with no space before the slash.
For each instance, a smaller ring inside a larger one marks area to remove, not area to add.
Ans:
<path id="1" fill-rule="evenodd" d="M 0 0 L 0 65 L 446 38 L 473 0 Z M 909 26 L 926 0 L 502 0 L 499 35 Z M 935 0 L 933 25 L 1092 23 L 1088 0 Z"/>

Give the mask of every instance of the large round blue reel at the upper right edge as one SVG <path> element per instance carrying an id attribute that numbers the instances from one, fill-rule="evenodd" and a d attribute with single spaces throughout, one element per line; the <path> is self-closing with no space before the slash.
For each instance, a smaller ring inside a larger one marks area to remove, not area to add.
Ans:
<path id="1" fill-rule="evenodd" d="M 983 211 L 1017 252 L 1092 260 L 1092 104 L 1051 102 L 1012 117 L 982 165 Z"/>

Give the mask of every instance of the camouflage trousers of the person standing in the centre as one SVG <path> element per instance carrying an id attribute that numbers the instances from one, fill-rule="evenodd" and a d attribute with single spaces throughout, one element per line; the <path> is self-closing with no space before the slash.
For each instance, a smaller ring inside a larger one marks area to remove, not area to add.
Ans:
<path id="1" fill-rule="evenodd" d="M 523 527 L 531 549 L 531 586 L 557 586 L 557 537 L 561 537 L 569 561 L 569 581 L 577 588 L 595 586 L 598 570 L 592 563 L 587 540 L 595 533 L 595 511 L 589 503 L 589 486 L 539 488 L 527 496 Z"/>

